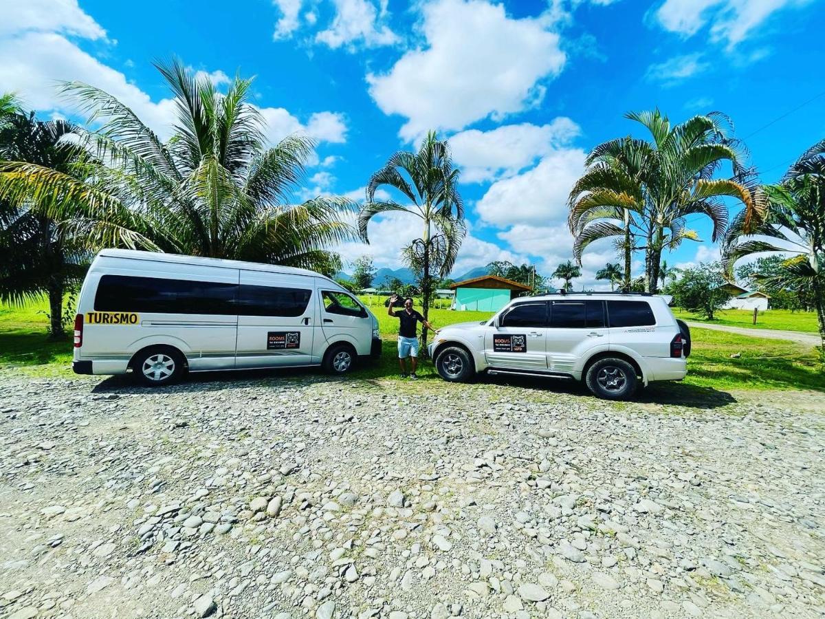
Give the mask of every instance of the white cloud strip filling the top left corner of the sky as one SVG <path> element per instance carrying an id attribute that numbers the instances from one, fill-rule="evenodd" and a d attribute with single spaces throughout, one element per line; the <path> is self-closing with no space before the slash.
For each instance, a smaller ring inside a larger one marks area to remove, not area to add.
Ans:
<path id="1" fill-rule="evenodd" d="M 106 31 L 77 0 L 0 0 L 0 36 L 15 32 L 60 32 L 85 39 L 106 39 Z"/>

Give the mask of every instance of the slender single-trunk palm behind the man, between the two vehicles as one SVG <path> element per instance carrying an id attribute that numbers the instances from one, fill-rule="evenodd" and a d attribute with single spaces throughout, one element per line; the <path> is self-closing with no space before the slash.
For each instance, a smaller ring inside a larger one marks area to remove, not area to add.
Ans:
<path id="1" fill-rule="evenodd" d="M 450 145 L 431 131 L 417 153 L 398 151 L 370 177 L 366 203 L 358 215 L 358 229 L 366 243 L 370 242 L 367 227 L 375 215 L 404 212 L 421 220 L 422 236 L 413 240 L 404 256 L 419 276 L 424 319 L 429 319 L 433 284 L 436 278 L 450 273 L 467 232 L 458 180 L 459 170 L 453 168 Z M 379 187 L 400 192 L 408 206 L 392 200 L 375 201 Z M 422 328 L 421 341 L 422 348 L 427 350 L 427 328 Z"/>

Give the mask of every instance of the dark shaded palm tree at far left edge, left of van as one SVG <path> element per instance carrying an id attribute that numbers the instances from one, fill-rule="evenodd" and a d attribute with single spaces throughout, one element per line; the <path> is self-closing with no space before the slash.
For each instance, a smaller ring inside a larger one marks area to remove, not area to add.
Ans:
<path id="1" fill-rule="evenodd" d="M 78 127 L 65 120 L 41 121 L 30 114 L 8 114 L 0 126 L 0 158 L 71 173 L 80 151 L 66 144 Z M 37 204 L 0 200 L 0 299 L 25 303 L 49 298 L 50 338 L 64 333 L 64 295 L 86 272 L 87 253 Z"/>

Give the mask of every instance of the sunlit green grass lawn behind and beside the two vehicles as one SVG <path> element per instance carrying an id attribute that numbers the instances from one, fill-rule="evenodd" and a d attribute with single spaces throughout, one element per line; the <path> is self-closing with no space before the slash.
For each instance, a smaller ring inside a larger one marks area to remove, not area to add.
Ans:
<path id="1" fill-rule="evenodd" d="M 36 376 L 73 376 L 71 340 L 49 341 L 46 316 L 39 313 L 45 307 L 45 300 L 22 308 L 0 305 L 0 367 L 26 366 L 26 371 Z M 398 319 L 387 315 L 383 303 L 372 305 L 371 309 L 379 319 L 384 339 L 383 354 L 379 361 L 362 368 L 354 378 L 393 380 L 398 385 Z M 771 310 L 774 311 L 781 310 Z M 790 312 L 785 314 L 791 319 L 799 317 L 799 314 Z M 431 309 L 430 321 L 436 327 L 444 327 L 460 322 L 479 322 L 491 315 L 488 312 Z M 775 324 L 783 324 L 781 314 L 775 315 Z M 688 360 L 688 375 L 683 381 L 686 385 L 717 390 L 825 391 L 825 373 L 818 365 L 813 347 L 806 349 L 792 342 L 750 338 L 706 328 L 694 328 L 691 333 L 693 349 Z M 732 354 L 739 357 L 731 358 Z M 428 361 L 422 361 L 418 374 L 422 379 L 437 378 L 435 368 Z M 549 384 L 548 388 L 554 387 Z"/>

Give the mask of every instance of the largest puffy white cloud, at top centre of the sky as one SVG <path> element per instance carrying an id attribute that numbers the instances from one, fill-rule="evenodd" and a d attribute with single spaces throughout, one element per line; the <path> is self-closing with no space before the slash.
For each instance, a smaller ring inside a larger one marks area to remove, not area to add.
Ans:
<path id="1" fill-rule="evenodd" d="M 426 47 L 408 51 L 389 73 L 367 75 L 381 111 L 407 118 L 404 139 L 535 106 L 544 97 L 540 81 L 564 66 L 546 17 L 512 19 L 502 4 L 483 0 L 435 0 L 422 12 Z"/>

